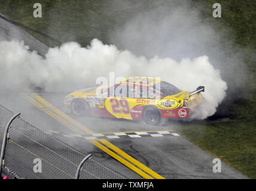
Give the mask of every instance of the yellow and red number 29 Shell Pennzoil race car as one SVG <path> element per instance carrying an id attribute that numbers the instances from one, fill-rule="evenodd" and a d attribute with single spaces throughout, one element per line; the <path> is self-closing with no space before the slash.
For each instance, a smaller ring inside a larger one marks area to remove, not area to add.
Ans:
<path id="1" fill-rule="evenodd" d="M 65 97 L 68 113 L 106 118 L 141 120 L 158 125 L 168 118 L 188 118 L 191 109 L 205 98 L 200 86 L 184 91 L 157 78 L 129 77 L 111 87 L 93 87 L 75 91 Z"/>

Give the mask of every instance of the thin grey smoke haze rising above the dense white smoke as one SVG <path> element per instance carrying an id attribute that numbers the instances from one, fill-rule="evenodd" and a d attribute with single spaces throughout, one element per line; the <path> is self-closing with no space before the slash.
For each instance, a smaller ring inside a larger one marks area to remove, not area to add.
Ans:
<path id="1" fill-rule="evenodd" d="M 228 84 L 229 99 L 248 84 L 244 50 L 234 44 L 232 30 L 227 24 L 212 17 L 214 9 L 203 11 L 209 14 L 205 17 L 201 13 L 207 5 L 191 0 L 159 0 L 149 7 L 129 2 L 115 6 L 112 8 L 116 10 L 135 10 L 108 33 L 109 42 L 119 50 L 129 50 L 147 58 L 158 56 L 173 60 L 208 56 Z M 208 72 L 204 67 L 202 70 Z M 245 91 L 239 96 L 242 94 Z"/>

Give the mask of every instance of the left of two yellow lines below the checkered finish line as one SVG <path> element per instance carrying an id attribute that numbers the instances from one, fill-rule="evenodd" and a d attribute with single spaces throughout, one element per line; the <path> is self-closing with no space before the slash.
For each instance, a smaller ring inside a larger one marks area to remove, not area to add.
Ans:
<path id="1" fill-rule="evenodd" d="M 137 174 L 141 175 L 142 177 L 147 178 L 147 179 L 154 179 L 150 175 L 146 174 L 144 171 L 142 171 L 139 168 L 135 167 L 135 165 L 130 164 L 130 162 L 124 160 L 123 158 L 121 158 L 120 156 L 118 156 L 117 154 L 115 154 L 114 152 L 112 152 L 111 150 L 109 150 L 108 148 L 103 146 L 102 144 L 100 144 L 98 141 L 90 140 L 90 142 L 92 144 L 94 144 L 96 147 L 98 147 L 100 150 L 103 150 L 103 152 L 107 153 L 109 156 L 112 156 L 112 158 L 116 159 L 117 161 L 119 161 L 122 164 L 126 165 L 126 167 L 130 168 L 131 170 L 135 171 Z"/>

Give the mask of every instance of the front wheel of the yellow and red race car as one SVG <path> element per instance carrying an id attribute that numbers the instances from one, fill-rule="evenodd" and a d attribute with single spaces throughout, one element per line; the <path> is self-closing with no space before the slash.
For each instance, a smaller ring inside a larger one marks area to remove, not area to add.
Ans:
<path id="1" fill-rule="evenodd" d="M 71 113 L 77 116 L 85 116 L 89 114 L 89 106 L 81 98 L 77 98 L 71 102 Z"/>

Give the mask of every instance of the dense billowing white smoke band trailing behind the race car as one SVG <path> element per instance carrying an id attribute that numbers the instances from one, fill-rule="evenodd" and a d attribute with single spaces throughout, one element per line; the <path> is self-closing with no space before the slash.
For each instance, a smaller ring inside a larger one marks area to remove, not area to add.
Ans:
<path id="1" fill-rule="evenodd" d="M 193 91 L 205 86 L 204 106 L 193 118 L 205 119 L 215 113 L 225 97 L 227 84 L 221 79 L 207 56 L 182 58 L 146 58 L 130 51 L 120 51 L 114 45 L 104 45 L 97 39 L 89 47 L 68 42 L 61 47 L 50 48 L 45 59 L 30 52 L 23 42 L 0 42 L 0 84 L 16 91 L 29 89 L 31 85 L 45 91 L 70 91 L 95 85 L 96 78 L 108 77 L 109 72 L 118 76 L 151 76 L 168 81 L 182 90 Z"/>

